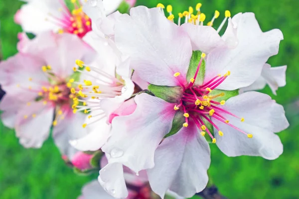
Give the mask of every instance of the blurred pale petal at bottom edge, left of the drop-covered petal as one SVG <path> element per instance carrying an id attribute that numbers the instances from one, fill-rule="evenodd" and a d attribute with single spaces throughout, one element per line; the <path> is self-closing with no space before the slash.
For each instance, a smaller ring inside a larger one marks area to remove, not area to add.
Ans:
<path id="1" fill-rule="evenodd" d="M 114 199 L 105 192 L 97 180 L 86 184 L 82 189 L 82 195 L 78 199 Z"/>

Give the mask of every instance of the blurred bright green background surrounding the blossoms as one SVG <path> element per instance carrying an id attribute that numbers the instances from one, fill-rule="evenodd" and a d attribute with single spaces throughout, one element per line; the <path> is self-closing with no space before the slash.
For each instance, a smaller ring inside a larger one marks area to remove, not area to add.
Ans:
<path id="1" fill-rule="evenodd" d="M 283 155 L 274 161 L 260 157 L 229 158 L 216 145 L 212 148 L 209 170 L 213 183 L 229 199 L 298 199 L 299 198 L 299 1 L 297 0 L 138 0 L 138 5 L 155 6 L 158 2 L 173 5 L 176 14 L 201 2 L 207 21 L 215 9 L 224 15 L 229 9 L 254 12 L 263 31 L 279 28 L 285 40 L 280 52 L 270 58 L 272 66 L 288 65 L 287 86 L 274 96 L 285 106 L 291 126 L 279 135 L 284 143 Z M 16 35 L 21 31 L 13 15 L 22 3 L 0 0 L 0 36 L 4 59 L 15 54 Z M 177 16 L 177 15 L 175 15 Z M 218 27 L 223 17 L 214 23 Z M 257 115 L 258 116 L 258 115 Z M 81 187 L 92 177 L 76 176 L 64 165 L 60 154 L 49 138 L 39 150 L 24 149 L 18 144 L 13 130 L 0 123 L 0 199 L 74 199 Z"/>

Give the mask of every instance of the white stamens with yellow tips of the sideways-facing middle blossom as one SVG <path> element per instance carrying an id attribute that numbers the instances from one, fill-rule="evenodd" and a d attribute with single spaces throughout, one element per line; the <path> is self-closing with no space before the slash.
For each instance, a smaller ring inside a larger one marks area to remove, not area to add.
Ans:
<path id="1" fill-rule="evenodd" d="M 124 81 L 96 67 L 86 66 L 81 60 L 76 60 L 76 64 L 78 67 L 74 67 L 73 70 L 89 78 L 83 82 L 70 80 L 72 84 L 77 85 L 76 89 L 71 89 L 71 93 L 75 95 L 72 105 L 73 112 L 84 111 L 85 114 L 89 114 L 90 122 L 82 125 L 85 128 L 106 117 L 100 106 L 100 101 L 105 98 L 121 96 L 126 92 L 126 86 Z"/>

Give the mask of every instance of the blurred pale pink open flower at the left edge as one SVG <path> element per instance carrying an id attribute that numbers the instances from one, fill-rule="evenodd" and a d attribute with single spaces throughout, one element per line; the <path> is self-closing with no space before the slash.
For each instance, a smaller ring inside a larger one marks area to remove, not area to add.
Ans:
<path id="1" fill-rule="evenodd" d="M 18 54 L 0 63 L 6 74 L 0 79 L 6 92 L 1 119 L 15 128 L 24 147 L 41 147 L 53 126 L 56 145 L 71 158 L 76 150 L 68 140 L 86 134 L 78 123 L 85 115 L 75 115 L 71 108 L 72 69 L 76 58 L 91 62 L 95 52 L 75 35 L 51 32 L 25 38 L 18 47 Z"/>

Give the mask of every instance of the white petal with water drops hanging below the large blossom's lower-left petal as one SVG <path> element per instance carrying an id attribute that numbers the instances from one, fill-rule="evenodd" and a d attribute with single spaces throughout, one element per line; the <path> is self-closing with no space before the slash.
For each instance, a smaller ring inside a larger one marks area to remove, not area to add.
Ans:
<path id="1" fill-rule="evenodd" d="M 106 165 L 100 170 L 98 180 L 104 190 L 114 198 L 124 199 L 128 196 L 122 164 L 110 163 Z"/>

